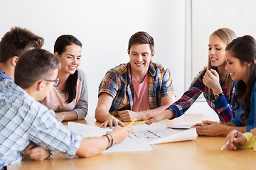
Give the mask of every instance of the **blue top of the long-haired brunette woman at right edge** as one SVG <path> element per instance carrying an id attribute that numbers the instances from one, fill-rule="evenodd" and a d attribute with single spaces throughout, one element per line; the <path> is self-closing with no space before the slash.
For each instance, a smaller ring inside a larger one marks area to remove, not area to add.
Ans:
<path id="1" fill-rule="evenodd" d="M 235 94 L 238 93 L 236 86 L 238 84 L 238 81 L 235 81 Z M 232 123 L 234 123 L 236 126 L 247 126 L 246 131 L 250 132 L 251 129 L 256 127 L 256 82 L 252 88 L 252 94 L 250 98 L 250 113 L 248 118 L 245 119 L 246 125 L 242 123 L 242 120 L 240 119 L 240 115 L 242 113 L 245 113 L 245 111 L 242 110 L 242 98 L 238 98 L 238 102 L 240 104 L 240 107 L 235 110 L 235 117 L 233 120 L 231 120 Z"/>

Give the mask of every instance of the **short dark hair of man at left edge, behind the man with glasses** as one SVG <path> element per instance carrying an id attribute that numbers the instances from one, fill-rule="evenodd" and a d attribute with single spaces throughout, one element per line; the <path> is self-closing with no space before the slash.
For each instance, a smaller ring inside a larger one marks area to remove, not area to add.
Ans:
<path id="1" fill-rule="evenodd" d="M 0 42 L 0 62 L 5 63 L 11 57 L 21 56 L 30 48 L 41 48 L 44 39 L 26 28 L 14 27 L 9 30 Z"/>

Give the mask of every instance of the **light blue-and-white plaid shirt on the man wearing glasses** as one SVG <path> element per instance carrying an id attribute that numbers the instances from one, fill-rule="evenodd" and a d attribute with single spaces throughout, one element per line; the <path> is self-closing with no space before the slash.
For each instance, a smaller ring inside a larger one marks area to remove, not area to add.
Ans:
<path id="1" fill-rule="evenodd" d="M 55 113 L 10 79 L 0 82 L 0 169 L 20 162 L 31 142 L 72 158 L 82 136 L 59 123 Z"/>

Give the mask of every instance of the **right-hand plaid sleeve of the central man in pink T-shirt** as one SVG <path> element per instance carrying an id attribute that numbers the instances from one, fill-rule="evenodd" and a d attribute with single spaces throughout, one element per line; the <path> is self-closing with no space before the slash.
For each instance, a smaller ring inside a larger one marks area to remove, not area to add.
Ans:
<path id="1" fill-rule="evenodd" d="M 174 86 L 172 82 L 171 72 L 169 69 L 166 69 L 162 80 L 161 97 L 168 96 L 170 94 L 174 95 Z"/>

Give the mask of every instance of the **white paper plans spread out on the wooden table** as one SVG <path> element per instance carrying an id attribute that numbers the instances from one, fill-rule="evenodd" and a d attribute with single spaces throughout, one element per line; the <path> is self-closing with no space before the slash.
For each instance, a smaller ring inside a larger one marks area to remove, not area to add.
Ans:
<path id="1" fill-rule="evenodd" d="M 68 127 L 75 132 L 80 132 L 82 137 L 101 137 L 111 132 L 110 128 L 100 128 L 92 125 L 69 122 Z M 167 128 L 164 122 L 152 123 L 151 125 L 131 126 L 133 131 L 121 143 L 113 145 L 104 152 L 137 152 L 152 150 L 151 144 L 195 140 L 196 129 L 178 131 Z"/>

